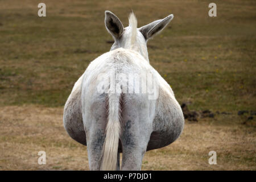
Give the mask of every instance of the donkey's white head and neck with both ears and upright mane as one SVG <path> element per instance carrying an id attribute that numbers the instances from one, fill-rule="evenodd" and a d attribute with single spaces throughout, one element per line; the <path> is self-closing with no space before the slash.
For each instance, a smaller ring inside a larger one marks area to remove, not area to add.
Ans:
<path id="1" fill-rule="evenodd" d="M 117 48 L 131 48 L 141 53 L 148 60 L 147 40 L 158 34 L 174 18 L 169 15 L 164 19 L 156 20 L 141 28 L 137 28 L 137 19 L 133 13 L 129 16 L 129 26 L 124 28 L 122 22 L 110 11 L 105 11 L 105 26 L 114 38 L 110 51 Z"/>

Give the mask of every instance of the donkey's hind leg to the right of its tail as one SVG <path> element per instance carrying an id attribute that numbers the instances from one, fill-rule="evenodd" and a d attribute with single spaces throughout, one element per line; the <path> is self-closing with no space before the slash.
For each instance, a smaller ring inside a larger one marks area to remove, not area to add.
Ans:
<path id="1" fill-rule="evenodd" d="M 133 102 L 133 101 L 132 101 Z M 134 103 L 134 102 L 133 102 Z M 141 170 L 142 159 L 150 140 L 152 126 L 149 121 L 148 107 L 129 106 L 122 111 L 122 170 Z"/>

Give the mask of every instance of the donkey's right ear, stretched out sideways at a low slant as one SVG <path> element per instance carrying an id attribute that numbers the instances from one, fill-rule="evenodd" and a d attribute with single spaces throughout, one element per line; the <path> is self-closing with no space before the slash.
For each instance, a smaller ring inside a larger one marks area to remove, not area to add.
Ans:
<path id="1" fill-rule="evenodd" d="M 155 22 L 149 23 L 139 28 L 139 31 L 141 31 L 144 38 L 148 40 L 152 38 L 154 35 L 158 34 L 160 31 L 162 31 L 163 28 L 166 27 L 167 24 L 170 23 L 173 18 L 174 15 L 171 14 L 164 19 L 156 20 Z"/>

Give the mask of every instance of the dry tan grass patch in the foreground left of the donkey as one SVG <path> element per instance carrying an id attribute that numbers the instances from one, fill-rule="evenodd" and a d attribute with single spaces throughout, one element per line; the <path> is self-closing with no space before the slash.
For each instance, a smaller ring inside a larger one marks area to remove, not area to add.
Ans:
<path id="1" fill-rule="evenodd" d="M 88 169 L 86 147 L 69 138 L 62 114 L 60 108 L 1 107 L 1 169 Z M 38 165 L 39 151 L 46 151 L 46 166 Z"/>

